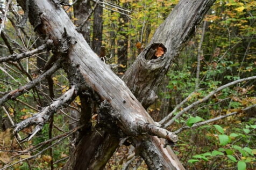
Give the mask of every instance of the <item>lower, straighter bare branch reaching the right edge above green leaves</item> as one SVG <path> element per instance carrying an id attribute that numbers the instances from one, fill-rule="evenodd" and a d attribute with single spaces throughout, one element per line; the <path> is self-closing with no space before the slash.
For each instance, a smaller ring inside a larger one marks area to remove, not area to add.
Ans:
<path id="1" fill-rule="evenodd" d="M 249 107 L 246 107 L 244 109 L 241 109 L 242 111 L 245 111 L 245 110 L 248 110 L 248 109 L 251 109 L 253 107 L 255 107 L 256 104 L 252 105 L 252 106 L 249 106 Z M 210 122 L 214 122 L 214 121 L 217 121 L 217 120 L 220 120 L 220 119 L 224 119 L 225 117 L 229 117 L 229 116 L 232 116 L 232 115 L 236 115 L 238 113 L 241 113 L 241 112 L 232 112 L 232 113 L 229 113 L 229 114 L 226 114 L 226 115 L 222 115 L 222 116 L 218 116 L 218 117 L 215 117 L 213 119 L 210 119 L 210 120 L 207 120 L 207 121 L 204 121 L 204 122 L 200 122 L 200 123 L 195 123 L 192 127 L 189 127 L 189 126 L 185 126 L 185 127 L 181 127 L 180 129 L 174 131 L 173 133 L 174 134 L 179 134 L 180 132 L 182 132 L 183 130 L 185 129 L 192 129 L 192 128 L 196 128 L 196 127 L 200 127 L 201 125 L 204 125 L 204 124 L 208 124 Z"/>

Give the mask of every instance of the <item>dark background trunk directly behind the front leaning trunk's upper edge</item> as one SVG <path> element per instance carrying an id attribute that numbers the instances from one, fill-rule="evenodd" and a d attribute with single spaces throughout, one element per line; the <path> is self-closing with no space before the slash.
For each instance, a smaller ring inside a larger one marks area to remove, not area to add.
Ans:
<path id="1" fill-rule="evenodd" d="M 80 0 L 74 4 L 74 16 L 77 18 L 75 20 L 75 24 L 77 26 L 81 25 L 84 19 L 87 18 L 91 11 L 91 5 L 89 0 Z M 81 33 L 83 34 L 84 39 L 90 45 L 90 19 L 86 21 L 86 24 L 81 29 Z"/>

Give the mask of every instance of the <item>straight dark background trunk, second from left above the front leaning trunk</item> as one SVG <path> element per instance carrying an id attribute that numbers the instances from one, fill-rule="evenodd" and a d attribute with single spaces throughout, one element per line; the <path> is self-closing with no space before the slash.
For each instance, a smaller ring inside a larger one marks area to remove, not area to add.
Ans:
<path id="1" fill-rule="evenodd" d="M 102 0 L 101 0 L 102 1 Z M 94 52 L 99 56 L 102 49 L 102 31 L 103 31 L 103 7 L 97 5 L 94 10 L 94 24 L 93 24 L 93 47 Z"/>

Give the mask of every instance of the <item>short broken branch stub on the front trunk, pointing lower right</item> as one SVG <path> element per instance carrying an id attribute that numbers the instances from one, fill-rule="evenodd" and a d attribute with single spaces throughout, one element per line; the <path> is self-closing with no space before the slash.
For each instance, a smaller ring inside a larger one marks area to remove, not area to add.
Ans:
<path id="1" fill-rule="evenodd" d="M 168 142 L 177 142 L 178 137 L 173 132 L 170 132 L 166 129 L 160 128 L 157 125 L 146 123 L 146 122 L 138 122 L 139 129 L 142 132 L 146 132 L 150 135 L 155 135 L 164 139 L 167 139 Z"/>

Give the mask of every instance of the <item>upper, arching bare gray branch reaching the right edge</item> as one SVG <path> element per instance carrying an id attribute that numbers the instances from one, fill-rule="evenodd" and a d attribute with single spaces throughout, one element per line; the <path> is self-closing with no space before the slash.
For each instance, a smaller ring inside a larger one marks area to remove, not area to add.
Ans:
<path id="1" fill-rule="evenodd" d="M 170 124 L 172 124 L 174 122 L 174 120 L 176 120 L 178 117 L 180 117 L 183 113 L 187 112 L 189 109 L 193 108 L 194 106 L 198 105 L 198 104 L 201 104 L 202 102 L 204 101 L 207 101 L 212 95 L 214 95 L 215 93 L 223 90 L 224 88 L 226 87 L 229 87 L 229 86 L 232 86 L 234 84 L 237 84 L 237 83 L 241 83 L 241 82 L 245 82 L 247 80 L 252 80 L 252 79 L 256 79 L 256 76 L 252 76 L 252 77 L 247 77 L 247 78 L 243 78 L 243 79 L 240 79 L 240 80 L 236 80 L 234 82 L 231 82 L 231 83 L 227 83 L 219 88 L 217 88 L 215 91 L 212 91 L 210 94 L 208 94 L 206 97 L 204 97 L 203 99 L 201 100 L 197 100 L 196 102 L 194 102 L 193 104 L 189 105 L 188 107 L 184 108 L 183 110 L 181 110 L 181 112 L 179 112 L 177 115 L 175 115 L 173 117 L 173 119 L 171 119 L 169 122 L 167 122 L 165 125 L 163 125 L 164 128 L 167 128 Z"/>

